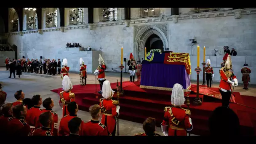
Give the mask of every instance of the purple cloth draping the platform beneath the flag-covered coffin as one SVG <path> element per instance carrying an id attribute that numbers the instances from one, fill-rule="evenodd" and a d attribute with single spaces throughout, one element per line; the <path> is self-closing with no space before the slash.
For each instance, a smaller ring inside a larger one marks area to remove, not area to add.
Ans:
<path id="1" fill-rule="evenodd" d="M 159 63 L 142 65 L 141 88 L 173 88 L 176 83 L 181 84 L 184 89 L 190 87 L 190 75 L 187 74 L 184 65 Z"/>

